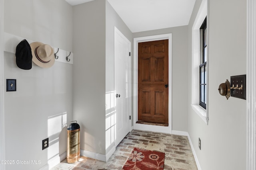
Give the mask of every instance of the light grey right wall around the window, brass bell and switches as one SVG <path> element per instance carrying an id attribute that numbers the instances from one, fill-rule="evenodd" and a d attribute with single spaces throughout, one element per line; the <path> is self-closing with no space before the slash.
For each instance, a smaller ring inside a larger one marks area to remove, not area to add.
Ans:
<path id="1" fill-rule="evenodd" d="M 191 75 L 192 25 L 188 25 L 188 75 Z M 202 170 L 246 169 L 246 100 L 220 96 L 219 84 L 246 74 L 246 1 L 210 0 L 209 3 L 209 125 L 191 108 L 188 77 L 188 133 Z M 201 150 L 198 138 L 201 139 Z"/>

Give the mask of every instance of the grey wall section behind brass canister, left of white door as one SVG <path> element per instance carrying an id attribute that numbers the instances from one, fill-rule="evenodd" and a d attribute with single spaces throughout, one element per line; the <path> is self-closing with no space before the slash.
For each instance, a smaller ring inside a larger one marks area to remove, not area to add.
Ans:
<path id="1" fill-rule="evenodd" d="M 106 4 L 94 0 L 73 6 L 74 119 L 80 149 L 105 155 Z"/>

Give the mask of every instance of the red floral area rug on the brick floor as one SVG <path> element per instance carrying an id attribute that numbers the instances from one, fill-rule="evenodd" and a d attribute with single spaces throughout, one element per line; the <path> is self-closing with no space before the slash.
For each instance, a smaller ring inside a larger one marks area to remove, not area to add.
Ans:
<path id="1" fill-rule="evenodd" d="M 164 153 L 134 148 L 122 170 L 163 170 Z"/>

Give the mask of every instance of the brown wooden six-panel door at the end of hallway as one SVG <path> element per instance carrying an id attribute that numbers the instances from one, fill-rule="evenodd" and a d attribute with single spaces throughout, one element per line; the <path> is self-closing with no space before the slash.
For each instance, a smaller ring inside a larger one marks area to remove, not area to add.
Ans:
<path id="1" fill-rule="evenodd" d="M 168 126 L 168 39 L 138 43 L 138 123 Z"/>

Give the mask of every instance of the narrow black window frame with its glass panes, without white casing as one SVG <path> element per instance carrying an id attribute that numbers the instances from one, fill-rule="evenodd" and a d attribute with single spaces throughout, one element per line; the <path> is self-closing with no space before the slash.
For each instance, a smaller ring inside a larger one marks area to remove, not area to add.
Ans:
<path id="1" fill-rule="evenodd" d="M 207 44 L 206 44 L 206 18 L 204 19 L 204 22 L 202 23 L 200 27 L 200 66 L 199 66 L 199 72 L 200 72 L 200 106 L 204 107 L 206 109 L 206 98 L 207 98 L 207 71 L 206 71 L 206 62 L 207 62 Z"/>

